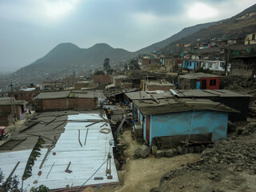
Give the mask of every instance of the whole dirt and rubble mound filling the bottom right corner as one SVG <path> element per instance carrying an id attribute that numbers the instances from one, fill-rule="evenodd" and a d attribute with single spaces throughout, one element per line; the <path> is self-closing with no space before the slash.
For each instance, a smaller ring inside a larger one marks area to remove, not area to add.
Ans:
<path id="1" fill-rule="evenodd" d="M 256 184 L 256 135 L 232 137 L 203 151 L 198 162 L 164 174 L 163 191 L 254 191 Z M 205 190 L 207 189 L 207 190 Z"/>

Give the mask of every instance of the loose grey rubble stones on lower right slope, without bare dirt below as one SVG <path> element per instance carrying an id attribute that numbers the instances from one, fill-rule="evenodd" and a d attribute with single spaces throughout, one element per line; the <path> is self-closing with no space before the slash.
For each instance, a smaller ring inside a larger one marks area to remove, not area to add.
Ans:
<path id="1" fill-rule="evenodd" d="M 235 138 L 235 137 L 234 137 Z M 217 181 L 221 178 L 222 170 L 232 172 L 246 171 L 256 174 L 256 142 L 238 142 L 237 140 L 215 142 L 213 148 L 206 148 L 198 162 L 188 163 L 176 170 L 164 174 L 159 187 L 150 191 L 162 191 L 160 187 L 166 181 L 183 174 L 202 172 L 210 173 L 210 179 Z"/>

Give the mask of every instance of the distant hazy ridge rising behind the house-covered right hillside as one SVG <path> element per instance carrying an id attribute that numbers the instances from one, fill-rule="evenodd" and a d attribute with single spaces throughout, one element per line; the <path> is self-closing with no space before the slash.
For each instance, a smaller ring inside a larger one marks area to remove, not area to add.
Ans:
<path id="1" fill-rule="evenodd" d="M 204 24 L 198 24 L 196 26 L 190 26 L 186 27 L 177 34 L 172 35 L 170 38 L 166 38 L 165 40 L 162 40 L 161 42 L 156 42 L 152 44 L 151 46 L 146 46 L 145 48 L 142 48 L 141 50 L 138 50 L 137 53 L 145 54 L 145 53 L 151 53 L 155 48 L 158 49 L 164 48 L 165 46 L 168 46 L 171 42 L 177 41 L 180 38 L 184 38 L 190 34 L 194 34 L 198 30 L 201 30 L 203 28 L 206 28 L 208 26 L 214 25 L 216 22 L 207 22 Z"/>

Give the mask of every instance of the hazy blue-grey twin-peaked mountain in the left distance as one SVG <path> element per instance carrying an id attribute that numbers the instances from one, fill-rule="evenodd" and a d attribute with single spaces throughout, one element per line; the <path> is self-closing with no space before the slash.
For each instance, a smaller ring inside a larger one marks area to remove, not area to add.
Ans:
<path id="1" fill-rule="evenodd" d="M 98 43 L 88 49 L 81 49 L 74 44 L 61 43 L 50 50 L 43 58 L 17 70 L 7 79 L 23 84 L 45 81 L 46 78 L 64 78 L 74 70 L 89 71 L 101 67 L 105 58 L 110 58 L 110 66 L 133 58 L 136 53 L 115 49 L 105 43 Z"/>

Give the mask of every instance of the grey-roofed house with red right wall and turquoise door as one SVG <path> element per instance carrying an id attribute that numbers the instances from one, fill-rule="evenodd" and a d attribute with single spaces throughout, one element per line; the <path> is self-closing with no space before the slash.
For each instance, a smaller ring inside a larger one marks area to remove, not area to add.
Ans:
<path id="1" fill-rule="evenodd" d="M 178 76 L 179 90 L 219 90 L 219 76 L 214 74 L 184 74 Z"/>

